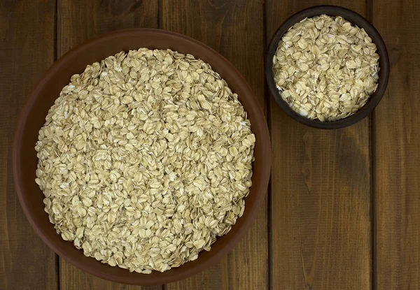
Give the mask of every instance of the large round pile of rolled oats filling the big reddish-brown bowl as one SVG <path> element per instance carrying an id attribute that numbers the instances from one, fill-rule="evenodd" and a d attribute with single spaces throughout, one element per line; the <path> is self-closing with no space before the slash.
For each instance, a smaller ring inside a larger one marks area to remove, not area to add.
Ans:
<path id="1" fill-rule="evenodd" d="M 241 217 L 254 144 L 209 64 L 141 48 L 71 77 L 39 131 L 36 182 L 57 233 L 86 256 L 163 272 Z"/>

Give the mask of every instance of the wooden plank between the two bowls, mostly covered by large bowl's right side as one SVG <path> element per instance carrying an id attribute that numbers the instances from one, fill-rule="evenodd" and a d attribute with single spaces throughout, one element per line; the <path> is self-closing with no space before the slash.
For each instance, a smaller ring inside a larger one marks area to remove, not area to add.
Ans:
<path id="1" fill-rule="evenodd" d="M 211 46 L 234 64 L 264 106 L 263 1 L 162 2 L 162 27 Z M 165 289 L 267 289 L 267 205 L 221 263 Z"/>

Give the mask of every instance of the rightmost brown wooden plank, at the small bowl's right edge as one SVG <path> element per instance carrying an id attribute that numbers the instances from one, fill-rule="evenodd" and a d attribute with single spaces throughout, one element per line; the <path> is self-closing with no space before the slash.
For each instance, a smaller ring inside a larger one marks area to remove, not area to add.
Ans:
<path id="1" fill-rule="evenodd" d="M 373 4 L 391 61 L 374 115 L 377 289 L 420 289 L 420 3 Z"/>

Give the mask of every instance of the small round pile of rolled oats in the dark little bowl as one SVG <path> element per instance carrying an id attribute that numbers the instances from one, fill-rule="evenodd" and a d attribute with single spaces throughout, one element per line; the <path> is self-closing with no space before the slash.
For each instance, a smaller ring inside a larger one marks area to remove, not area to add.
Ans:
<path id="1" fill-rule="evenodd" d="M 363 28 L 341 16 L 318 15 L 283 34 L 272 70 L 290 108 L 331 122 L 356 113 L 375 92 L 379 55 Z"/>

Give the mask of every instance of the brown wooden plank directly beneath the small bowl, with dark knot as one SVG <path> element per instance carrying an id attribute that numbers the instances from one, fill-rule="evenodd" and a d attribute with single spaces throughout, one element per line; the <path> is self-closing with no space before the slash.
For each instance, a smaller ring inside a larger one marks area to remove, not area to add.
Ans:
<path id="1" fill-rule="evenodd" d="M 327 1 L 365 15 L 365 1 Z M 267 0 L 267 40 L 287 17 L 325 1 Z M 323 131 L 270 99 L 272 289 L 369 289 L 370 119 Z"/>

